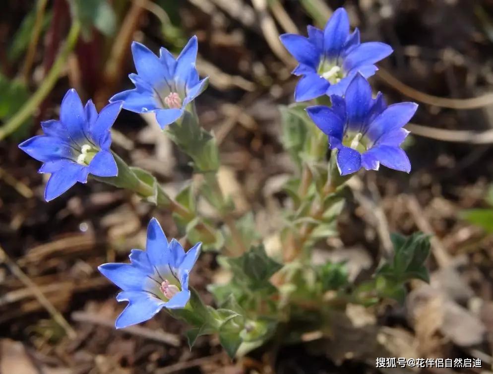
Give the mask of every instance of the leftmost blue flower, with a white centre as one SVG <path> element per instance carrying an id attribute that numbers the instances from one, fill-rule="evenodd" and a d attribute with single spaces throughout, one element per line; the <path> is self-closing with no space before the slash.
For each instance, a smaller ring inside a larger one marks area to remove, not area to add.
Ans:
<path id="1" fill-rule="evenodd" d="M 110 151 L 110 128 L 115 122 L 121 102 L 108 104 L 98 114 L 89 100 L 82 106 L 72 88 L 62 100 L 60 121 L 41 123 L 44 135 L 37 135 L 19 144 L 29 156 L 43 162 L 40 173 L 50 173 L 45 200 L 60 196 L 75 183 L 86 183 L 89 174 L 115 177 L 118 168 Z"/>

